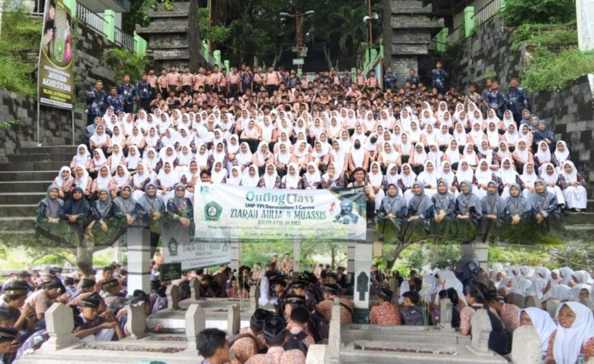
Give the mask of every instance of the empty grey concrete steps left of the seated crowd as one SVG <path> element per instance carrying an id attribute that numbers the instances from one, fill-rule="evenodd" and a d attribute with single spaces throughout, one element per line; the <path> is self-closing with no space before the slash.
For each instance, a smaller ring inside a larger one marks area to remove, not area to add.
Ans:
<path id="1" fill-rule="evenodd" d="M 37 204 L 75 152 L 75 145 L 19 148 L 0 163 L 0 243 L 34 236 Z"/>

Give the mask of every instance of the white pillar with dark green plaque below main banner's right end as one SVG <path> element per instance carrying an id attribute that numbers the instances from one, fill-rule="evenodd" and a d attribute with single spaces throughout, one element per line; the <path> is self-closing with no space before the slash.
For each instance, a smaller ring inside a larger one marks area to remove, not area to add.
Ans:
<path id="1" fill-rule="evenodd" d="M 368 323 L 370 312 L 370 271 L 373 255 L 373 232 L 367 230 L 367 240 L 355 246 L 355 276 L 353 303 L 354 323 Z"/>

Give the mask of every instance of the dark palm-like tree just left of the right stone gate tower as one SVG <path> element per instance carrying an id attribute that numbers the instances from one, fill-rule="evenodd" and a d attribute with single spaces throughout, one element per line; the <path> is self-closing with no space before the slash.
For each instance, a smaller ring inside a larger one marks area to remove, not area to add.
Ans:
<path id="1" fill-rule="evenodd" d="M 357 63 L 357 50 L 361 43 L 365 43 L 367 26 L 363 17 L 367 14 L 365 6 L 343 6 L 338 12 L 332 14 L 332 19 L 338 21 L 340 26 L 327 34 L 327 41 L 338 35 L 338 45 L 342 52 L 351 52 L 353 64 Z M 347 41 L 350 45 L 347 46 Z"/>

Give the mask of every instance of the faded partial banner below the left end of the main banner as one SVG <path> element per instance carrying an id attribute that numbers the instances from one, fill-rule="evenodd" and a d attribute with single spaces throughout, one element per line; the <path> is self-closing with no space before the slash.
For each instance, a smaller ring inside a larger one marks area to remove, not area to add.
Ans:
<path id="1" fill-rule="evenodd" d="M 196 241 L 188 228 L 161 226 L 164 263 L 181 263 L 182 270 L 195 270 L 231 262 L 228 242 Z"/>

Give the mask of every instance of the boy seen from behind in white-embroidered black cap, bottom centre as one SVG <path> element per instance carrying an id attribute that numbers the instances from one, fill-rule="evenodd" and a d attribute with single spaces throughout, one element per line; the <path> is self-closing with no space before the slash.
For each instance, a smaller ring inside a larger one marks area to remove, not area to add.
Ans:
<path id="1" fill-rule="evenodd" d="M 263 336 L 268 347 L 266 354 L 254 355 L 246 364 L 305 364 L 301 350 L 285 350 L 286 325 L 280 316 L 270 316 L 264 321 Z"/>

